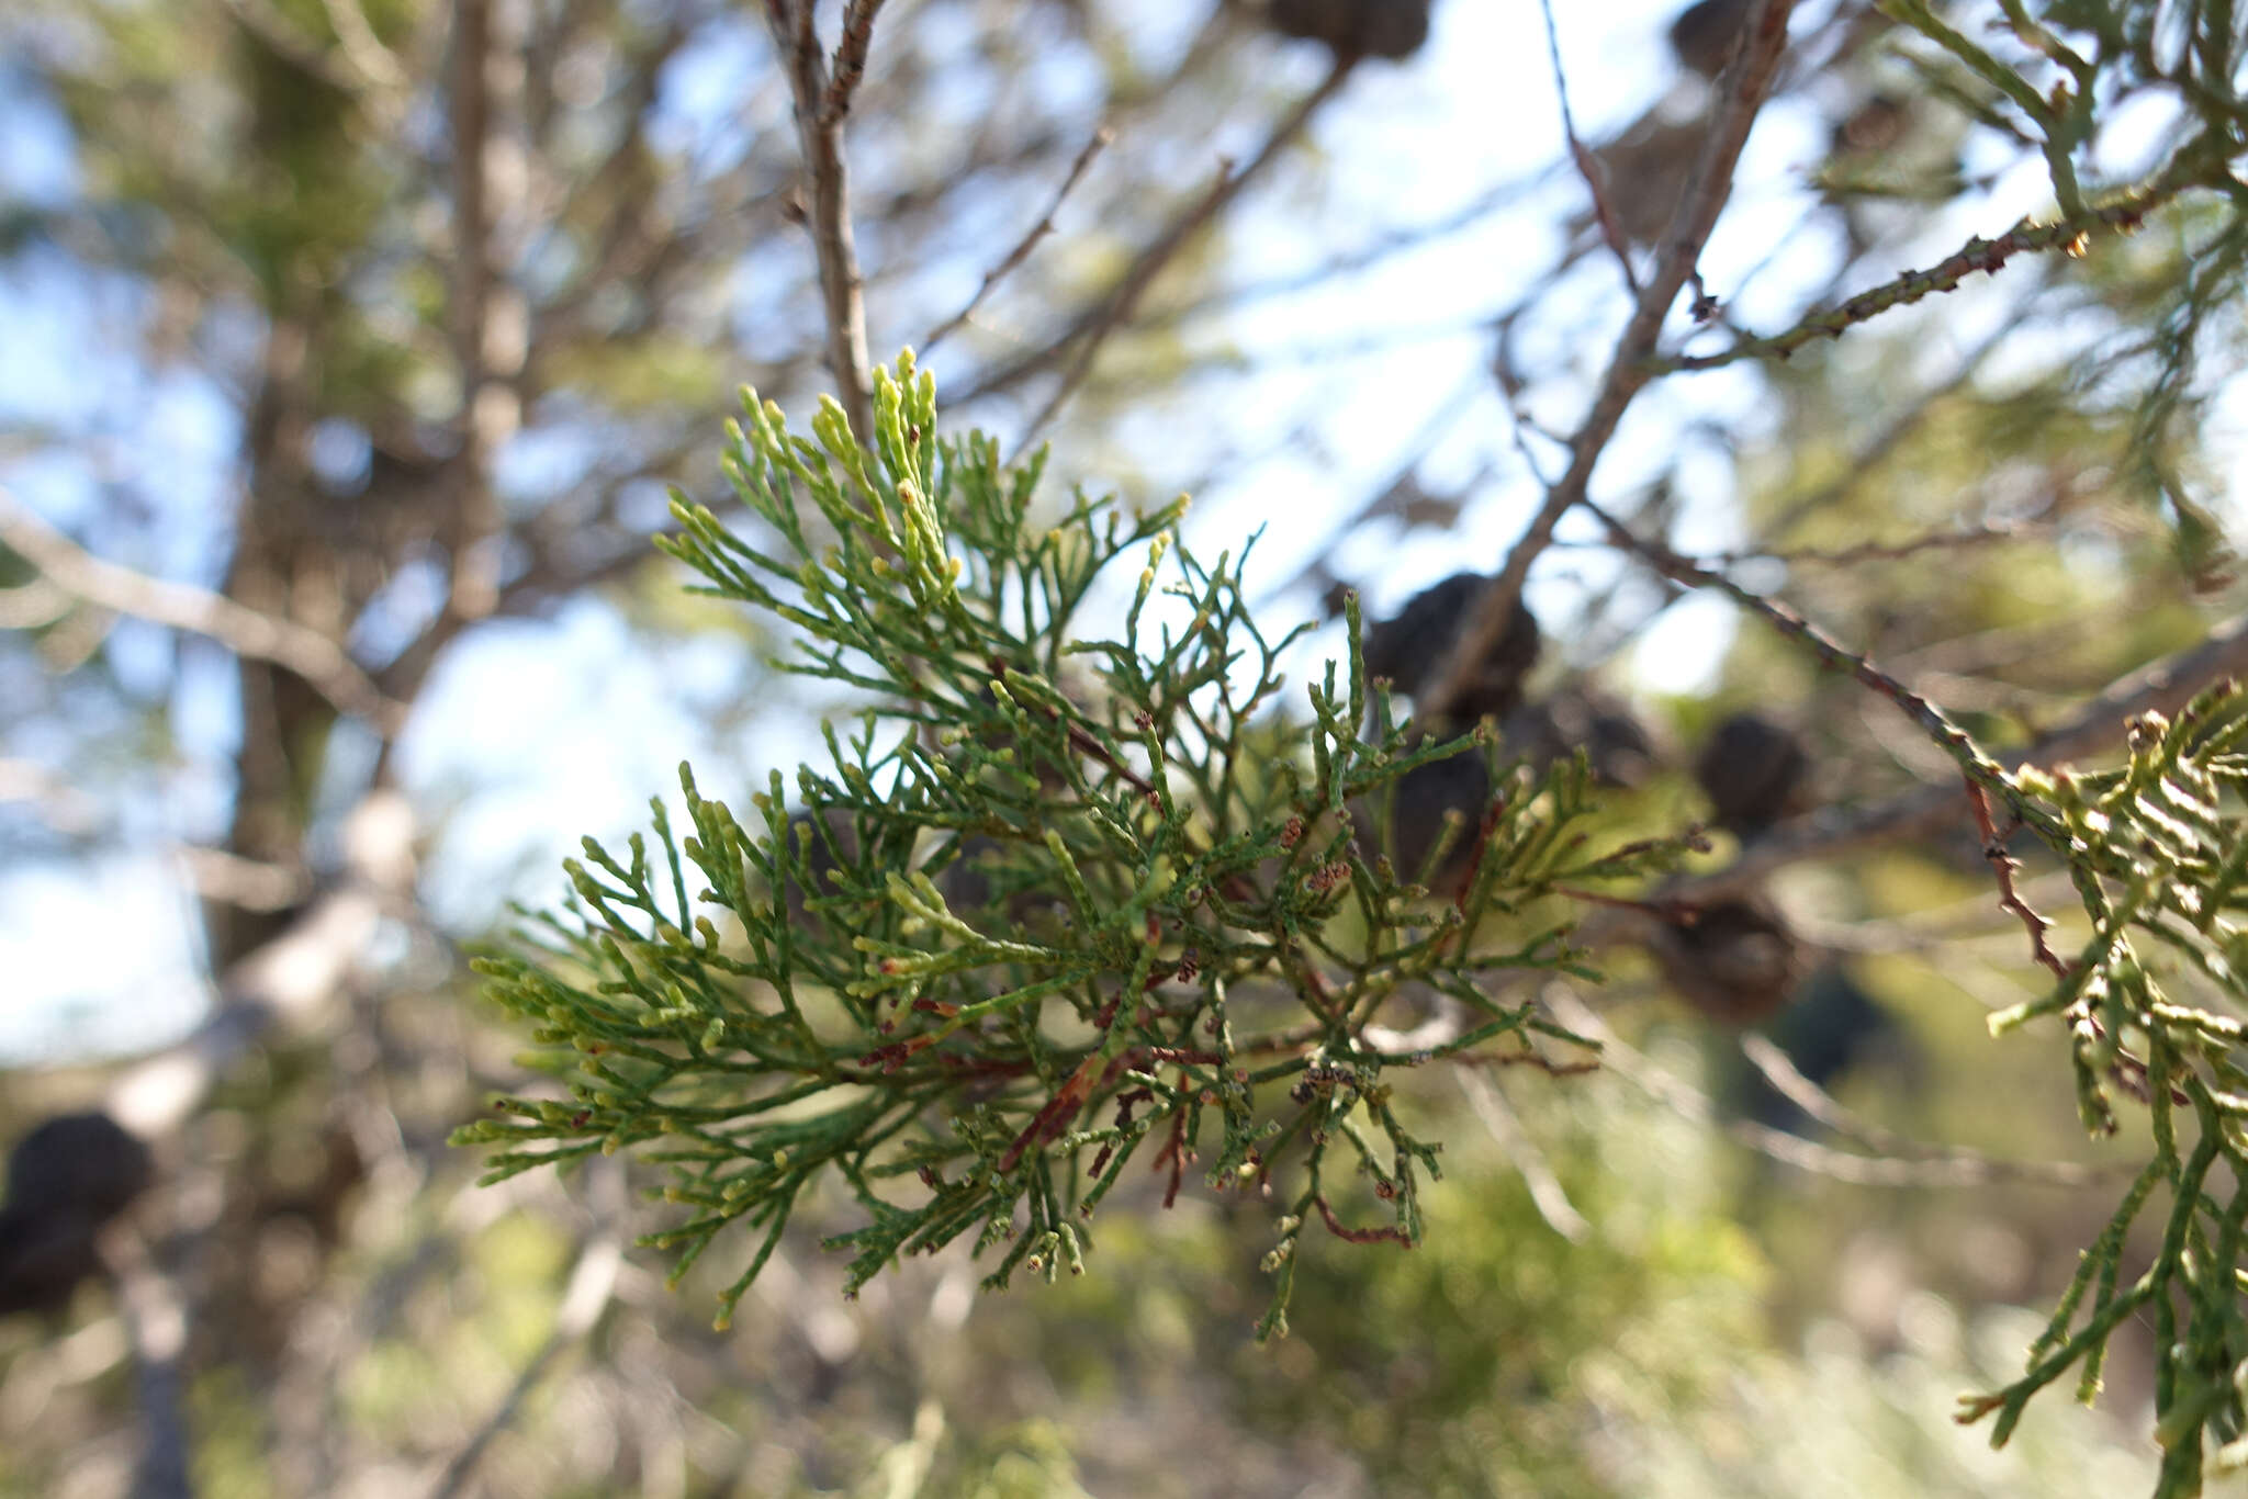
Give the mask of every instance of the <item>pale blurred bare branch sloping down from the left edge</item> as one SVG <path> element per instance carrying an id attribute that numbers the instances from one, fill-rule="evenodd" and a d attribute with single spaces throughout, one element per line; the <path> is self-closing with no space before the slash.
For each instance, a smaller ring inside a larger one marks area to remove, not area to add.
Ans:
<path id="1" fill-rule="evenodd" d="M 317 629 L 259 614 L 209 589 L 148 578 L 103 562 L 47 526 L 4 488 L 0 488 L 0 542 L 31 562 L 58 589 L 99 609 L 187 629 L 218 641 L 236 656 L 288 667 L 303 676 L 337 712 L 366 719 L 384 735 L 405 724 L 405 703 L 384 697 L 373 679 L 344 654 L 344 647 Z"/>

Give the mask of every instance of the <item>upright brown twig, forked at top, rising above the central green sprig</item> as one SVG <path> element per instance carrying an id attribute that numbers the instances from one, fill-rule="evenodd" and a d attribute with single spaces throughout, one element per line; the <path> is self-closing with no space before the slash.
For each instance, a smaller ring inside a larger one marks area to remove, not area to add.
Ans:
<path id="1" fill-rule="evenodd" d="M 796 137 L 805 155 L 807 214 L 812 252 L 821 263 L 821 297 L 827 303 L 827 369 L 834 375 L 843 414 L 852 431 L 874 440 L 874 378 L 865 355 L 865 281 L 859 274 L 859 245 L 850 227 L 850 169 L 843 162 L 843 117 L 850 94 L 865 67 L 868 31 L 879 0 L 852 0 L 843 13 L 843 43 L 836 47 L 836 76 L 830 79 L 821 58 L 821 38 L 812 27 L 812 0 L 764 0 L 764 18 L 773 29 L 789 92 L 796 94 Z M 854 31 L 856 27 L 856 31 Z M 854 40 L 856 36 L 856 40 Z M 850 70 L 845 81 L 843 70 Z"/>

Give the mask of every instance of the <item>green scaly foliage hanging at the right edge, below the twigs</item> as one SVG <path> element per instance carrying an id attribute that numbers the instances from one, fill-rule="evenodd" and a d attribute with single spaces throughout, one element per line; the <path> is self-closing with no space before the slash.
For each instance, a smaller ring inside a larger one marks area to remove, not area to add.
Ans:
<path id="1" fill-rule="evenodd" d="M 1963 1400 L 1963 1420 L 1998 1414 L 2005 1441 L 2030 1396 L 2079 1371 L 2100 1389 L 2109 1335 L 2129 1317 L 2156 1330 L 2160 1497 L 2201 1492 L 2205 1468 L 2248 1468 L 2248 1317 L 2241 1225 L 2248 1223 L 2248 694 L 2223 681 L 2176 721 L 2131 724 L 2115 771 L 2023 771 L 2021 789 L 2066 825 L 2091 937 L 2041 1000 L 1992 1016 L 1994 1032 L 2059 1016 L 2073 1038 L 2086 1128 L 2118 1130 L 2115 1097 L 2142 1106 L 2154 1160 L 2084 1252 L 2030 1371 Z M 2037 937 L 2043 946 L 2043 937 Z M 2122 1279 L 2133 1223 L 2167 1198 L 2154 1263 Z"/>

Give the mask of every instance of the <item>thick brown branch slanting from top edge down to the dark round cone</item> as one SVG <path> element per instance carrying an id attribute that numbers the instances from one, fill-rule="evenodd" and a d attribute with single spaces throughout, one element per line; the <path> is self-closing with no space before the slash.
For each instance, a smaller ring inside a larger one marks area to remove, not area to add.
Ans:
<path id="1" fill-rule="evenodd" d="M 1740 148 L 1749 139 L 1749 126 L 1756 124 L 1758 108 L 1771 92 L 1771 81 L 1778 76 L 1780 52 L 1787 47 L 1789 11 L 1794 11 L 1794 0 L 1758 0 L 1756 11 L 1742 22 L 1740 52 L 1717 83 L 1720 99 L 1711 115 L 1708 139 L 1702 144 L 1702 160 L 1695 166 L 1693 182 L 1679 196 L 1677 211 L 1670 216 L 1670 229 L 1664 234 L 1655 272 L 1639 297 L 1639 306 L 1632 310 L 1632 321 L 1625 324 L 1623 337 L 1616 339 L 1616 353 L 1607 362 L 1601 393 L 1594 398 L 1592 411 L 1576 429 L 1576 436 L 1569 438 L 1569 467 L 1547 492 L 1544 506 L 1531 519 L 1529 530 L 1506 553 L 1499 575 L 1484 589 L 1450 654 L 1434 672 L 1434 683 L 1425 701 L 1418 703 L 1423 715 L 1445 715 L 1497 645 L 1513 618 L 1515 605 L 1522 600 L 1522 584 L 1529 580 L 1531 564 L 1553 542 L 1553 528 L 1560 524 L 1560 517 L 1585 499 L 1592 485 L 1592 470 L 1607 449 L 1607 440 L 1616 434 L 1623 409 L 1632 405 L 1632 398 L 1652 378 L 1648 355 L 1655 353 L 1664 319 L 1670 317 L 1670 303 L 1677 301 L 1679 290 L 1693 276 L 1702 245 L 1708 240 L 1711 229 L 1715 229 L 1717 214 L 1724 211 L 1724 200 L 1733 191 L 1733 166 L 1740 162 Z"/>

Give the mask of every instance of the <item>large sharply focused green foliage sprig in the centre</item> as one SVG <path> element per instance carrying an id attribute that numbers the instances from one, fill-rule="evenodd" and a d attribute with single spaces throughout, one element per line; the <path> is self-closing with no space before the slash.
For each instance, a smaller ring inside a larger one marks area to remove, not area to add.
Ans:
<path id="1" fill-rule="evenodd" d="M 1351 661 L 1290 719 L 1293 636 L 1259 632 L 1239 560 L 1176 542 L 1185 501 L 1079 497 L 1034 524 L 1043 454 L 1007 467 L 987 438 L 937 438 L 910 355 L 874 407 L 865 449 L 832 402 L 807 440 L 751 396 L 728 474 L 771 551 L 686 503 L 663 539 L 704 593 L 794 627 L 787 670 L 868 708 L 746 820 L 681 769 L 688 829 L 659 802 L 654 852 L 587 841 L 566 912 L 483 964 L 569 1097 L 501 1099 L 461 1139 L 501 1146 L 492 1180 L 596 1151 L 665 1162 L 688 1218 L 652 1243 L 679 1272 L 733 1223 L 758 1236 L 724 1315 L 823 1178 L 865 1211 L 830 1241 L 850 1288 L 962 1236 L 1005 1285 L 1081 1270 L 1135 1162 L 1171 1196 L 1205 1162 L 1216 1189 L 1277 1193 L 1279 1328 L 1306 1220 L 1423 1234 L 1439 1146 L 1385 1072 L 1565 1070 L 1535 1047 L 1576 1038 L 1499 980 L 1583 973 L 1578 888 L 1684 845 L 1603 843 L 1583 760 L 1535 778 L 1493 757 L 1481 816 L 1401 874 L 1376 852 L 1398 780 L 1493 748 L 1392 721 L 1356 605 Z M 1081 638 L 1126 557 L 1144 562 L 1122 632 Z M 1414 883 L 1436 870 L 1441 897 Z M 1439 1005 L 1443 1041 L 1383 1029 L 1398 996 Z"/>

